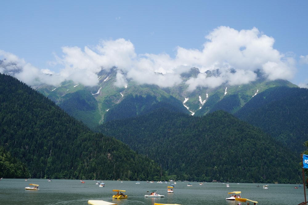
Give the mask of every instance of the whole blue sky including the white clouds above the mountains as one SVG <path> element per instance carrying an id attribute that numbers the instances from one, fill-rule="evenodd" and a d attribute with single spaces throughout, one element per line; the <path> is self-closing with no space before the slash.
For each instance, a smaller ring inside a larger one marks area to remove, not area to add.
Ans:
<path id="1" fill-rule="evenodd" d="M 257 69 L 272 80 L 308 83 L 306 0 L 13 0 L 1 7 L 2 66 L 17 63 L 22 73 L 15 76 L 29 85 L 64 79 L 95 85 L 95 73 L 111 66 L 118 68 L 118 86 L 128 79 L 174 86 L 193 66 L 223 75 L 201 74 L 188 82 L 191 90 L 252 82 Z"/>

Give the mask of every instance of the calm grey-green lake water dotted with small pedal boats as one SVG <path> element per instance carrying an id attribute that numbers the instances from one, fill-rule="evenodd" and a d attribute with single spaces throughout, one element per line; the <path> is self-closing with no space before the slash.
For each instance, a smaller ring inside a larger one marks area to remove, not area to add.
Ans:
<path id="1" fill-rule="evenodd" d="M 99 181 L 99 180 L 97 180 Z M 102 180 L 100 180 L 102 181 Z M 177 182 L 174 193 L 167 192 L 170 183 L 147 183 L 130 181 L 104 181 L 106 187 L 99 187 L 96 181 L 53 179 L 2 179 L 0 181 L 0 204 L 83 204 L 87 205 L 89 199 L 104 200 L 118 205 L 153 205 L 154 203 L 177 203 L 182 205 L 234 205 L 234 201 L 226 201 L 228 192 L 241 191 L 241 197 L 257 201 L 262 205 L 297 205 L 303 201 L 304 187 L 295 189 L 295 184 L 269 184 L 268 189 L 263 189 L 264 184 L 189 182 L 193 186 L 187 187 L 187 182 Z M 29 183 L 39 184 L 39 190 L 25 190 Z M 112 199 L 112 189 L 126 190 L 127 199 Z M 145 198 L 147 190 L 159 190 L 157 193 L 164 198 Z M 307 198 L 308 199 L 308 198 Z M 246 204 L 246 203 L 242 203 Z M 252 204 L 252 203 L 250 203 Z"/>

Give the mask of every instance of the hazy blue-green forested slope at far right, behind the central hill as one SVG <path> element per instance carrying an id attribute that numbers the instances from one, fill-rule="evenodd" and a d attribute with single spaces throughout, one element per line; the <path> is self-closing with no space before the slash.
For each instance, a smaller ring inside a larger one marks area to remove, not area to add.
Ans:
<path id="1" fill-rule="evenodd" d="M 308 89 L 274 87 L 257 94 L 235 115 L 301 153 L 308 139 Z"/>

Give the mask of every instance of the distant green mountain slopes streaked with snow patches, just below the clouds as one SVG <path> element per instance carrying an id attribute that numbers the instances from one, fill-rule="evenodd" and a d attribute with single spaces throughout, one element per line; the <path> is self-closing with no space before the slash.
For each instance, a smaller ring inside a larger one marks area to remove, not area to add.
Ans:
<path id="1" fill-rule="evenodd" d="M 213 72 L 206 73 L 208 76 L 219 73 L 218 71 L 217 73 Z M 216 88 L 197 87 L 193 91 L 188 91 L 188 85 L 185 82 L 196 78 L 199 73 L 198 68 L 191 68 L 188 73 L 181 75 L 183 83 L 174 87 L 162 88 L 147 84 L 140 85 L 134 81 L 128 81 L 126 86 L 117 87 L 115 86 L 117 73 L 112 68 L 108 71 L 101 70 L 97 74 L 99 84 L 94 87 L 85 87 L 74 84 L 74 82 L 63 82 L 58 87 L 40 85 L 35 89 L 48 96 L 70 115 L 94 129 L 98 124 L 108 120 L 143 115 L 158 106 L 169 107 L 169 109 L 172 107 L 175 111 L 184 113 L 189 111 L 192 115 L 198 116 L 203 116 L 216 110 L 235 113 L 245 103 L 249 102 L 254 95 L 266 89 L 275 86 L 297 87 L 285 80 L 268 81 L 260 76 L 257 81 L 245 85 L 222 85 Z M 83 94 L 78 93 L 81 90 L 83 90 Z M 134 102 L 139 98 L 137 96 L 144 98 L 142 105 L 140 104 L 141 101 Z M 75 103 L 72 101 L 76 101 L 77 103 L 82 103 L 84 107 L 92 107 L 94 105 L 93 99 L 97 103 L 95 104 L 95 109 L 84 110 L 82 107 L 72 106 Z M 129 100 L 133 101 L 128 102 Z M 161 101 L 163 102 L 158 103 Z M 123 109 L 129 104 L 134 104 L 136 108 Z"/>

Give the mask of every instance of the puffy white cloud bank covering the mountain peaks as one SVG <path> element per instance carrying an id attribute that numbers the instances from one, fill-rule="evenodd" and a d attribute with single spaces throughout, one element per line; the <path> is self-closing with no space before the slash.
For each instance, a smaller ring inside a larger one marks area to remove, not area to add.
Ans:
<path id="1" fill-rule="evenodd" d="M 10 72 L 30 86 L 41 83 L 58 86 L 64 80 L 95 86 L 99 82 L 97 73 L 115 66 L 116 86 L 125 86 L 128 80 L 134 80 L 140 84 L 169 87 L 182 82 L 181 73 L 197 67 L 201 73 L 197 78 L 186 81 L 189 90 L 198 86 L 216 87 L 223 83 L 249 83 L 257 79 L 254 72 L 257 70 L 270 80 L 294 77 L 295 59 L 274 49 L 274 38 L 257 28 L 238 31 L 220 26 L 205 39 L 202 50 L 178 46 L 174 58 L 166 53 L 136 54 L 133 43 L 124 38 L 103 40 L 91 48 L 64 46 L 63 54 L 55 54 L 55 61 L 50 62 L 50 67 L 61 68 L 59 72 L 34 67 L 14 54 L 0 50 L 0 59 L 3 59 L 0 72 Z M 302 60 L 307 61 L 307 56 Z M 18 69 L 19 72 L 16 72 Z M 207 76 L 205 73 L 216 69 L 221 73 L 219 76 Z"/>

